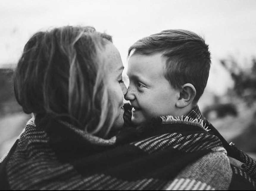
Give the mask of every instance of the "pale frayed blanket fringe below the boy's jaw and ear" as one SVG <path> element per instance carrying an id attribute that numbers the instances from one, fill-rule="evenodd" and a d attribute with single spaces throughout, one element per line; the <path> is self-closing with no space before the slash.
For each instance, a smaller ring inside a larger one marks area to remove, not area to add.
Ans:
<path id="1" fill-rule="evenodd" d="M 204 120 L 202 119 L 194 119 L 194 118 L 190 118 L 188 116 L 178 116 L 178 117 L 173 117 L 172 115 L 166 115 L 160 117 L 162 119 L 162 124 L 165 123 L 171 123 L 171 122 L 175 122 L 175 123 L 185 123 L 185 124 L 190 124 L 190 125 L 196 125 L 201 127 L 202 129 L 204 129 L 205 131 L 210 131 L 209 127 L 206 126 L 206 123 L 204 122 Z"/>

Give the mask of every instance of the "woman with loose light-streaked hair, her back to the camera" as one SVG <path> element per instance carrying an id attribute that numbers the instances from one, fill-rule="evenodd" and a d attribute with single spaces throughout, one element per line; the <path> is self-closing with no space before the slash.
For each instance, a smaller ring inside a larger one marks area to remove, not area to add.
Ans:
<path id="1" fill-rule="evenodd" d="M 123 68 L 112 37 L 93 27 L 33 35 L 18 62 L 14 90 L 35 123 L 29 121 L 1 161 L 1 188 L 65 188 L 67 179 L 82 178 L 75 160 L 111 148 L 110 130 L 124 124 Z"/>

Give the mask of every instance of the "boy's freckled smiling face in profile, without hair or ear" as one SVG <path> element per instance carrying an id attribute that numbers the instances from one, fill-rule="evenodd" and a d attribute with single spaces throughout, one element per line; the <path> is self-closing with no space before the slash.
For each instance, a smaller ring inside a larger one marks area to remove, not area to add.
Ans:
<path id="1" fill-rule="evenodd" d="M 132 122 L 142 124 L 153 118 L 176 116 L 179 91 L 164 77 L 166 58 L 161 53 L 132 54 L 128 60 L 129 87 L 125 99 L 132 105 Z"/>

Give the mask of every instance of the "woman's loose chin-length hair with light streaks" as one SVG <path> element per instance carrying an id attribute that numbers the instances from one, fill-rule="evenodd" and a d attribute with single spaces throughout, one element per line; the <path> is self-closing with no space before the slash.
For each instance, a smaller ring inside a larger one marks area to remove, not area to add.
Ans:
<path id="1" fill-rule="evenodd" d="M 93 27 L 65 26 L 33 35 L 24 47 L 14 90 L 25 113 L 68 120 L 104 137 L 117 116 L 103 54 L 112 37 Z"/>

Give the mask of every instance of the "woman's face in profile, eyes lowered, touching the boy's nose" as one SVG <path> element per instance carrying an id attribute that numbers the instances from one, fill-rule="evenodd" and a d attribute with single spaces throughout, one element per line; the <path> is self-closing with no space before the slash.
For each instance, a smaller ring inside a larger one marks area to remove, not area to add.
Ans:
<path id="1" fill-rule="evenodd" d="M 107 62 L 107 84 L 110 92 L 110 99 L 115 100 L 115 108 L 118 111 L 113 128 L 119 129 L 124 125 L 124 95 L 127 93 L 127 87 L 122 79 L 124 69 L 121 56 L 117 48 L 112 43 L 105 46 L 106 62 Z"/>

